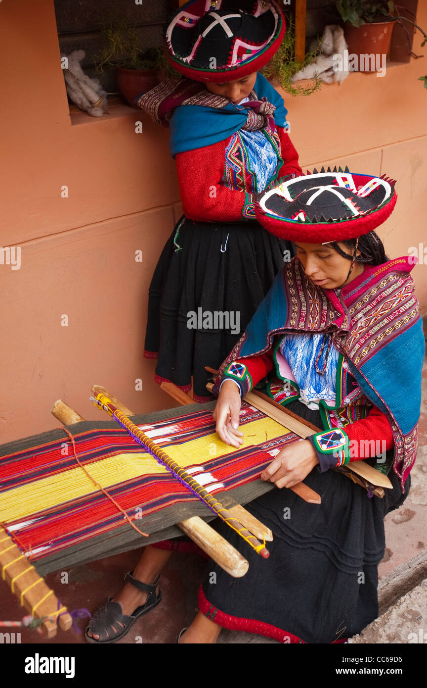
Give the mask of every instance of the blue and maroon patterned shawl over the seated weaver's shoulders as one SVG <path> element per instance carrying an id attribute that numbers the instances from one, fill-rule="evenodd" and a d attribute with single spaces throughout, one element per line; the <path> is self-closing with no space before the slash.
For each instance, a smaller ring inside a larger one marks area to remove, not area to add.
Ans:
<path id="1" fill-rule="evenodd" d="M 417 454 L 424 336 L 408 257 L 369 266 L 337 294 L 316 287 L 293 258 L 279 272 L 246 331 L 218 371 L 277 345 L 277 335 L 325 332 L 349 373 L 389 418 L 393 468 L 403 488 Z"/>

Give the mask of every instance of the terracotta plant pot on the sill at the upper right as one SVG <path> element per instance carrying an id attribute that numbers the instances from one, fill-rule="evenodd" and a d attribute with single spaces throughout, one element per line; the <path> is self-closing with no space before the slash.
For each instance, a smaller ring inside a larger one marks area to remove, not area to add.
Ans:
<path id="1" fill-rule="evenodd" d="M 337 0 L 351 54 L 387 54 L 396 17 L 391 0 Z M 361 70 L 362 71 L 362 70 Z"/>

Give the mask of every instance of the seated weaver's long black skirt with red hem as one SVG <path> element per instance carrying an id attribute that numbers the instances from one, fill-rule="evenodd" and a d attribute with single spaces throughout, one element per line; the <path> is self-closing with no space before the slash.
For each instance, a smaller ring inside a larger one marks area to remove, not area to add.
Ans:
<path id="1" fill-rule="evenodd" d="M 303 415 L 319 424 L 314 415 Z M 384 516 L 402 504 L 410 485 L 408 479 L 402 495 L 396 475 L 389 477 L 393 489 L 380 499 L 342 473 L 314 468 L 304 482 L 321 495 L 321 504 L 303 502 L 288 489 L 246 504 L 273 531 L 268 559 L 217 522 L 221 535 L 248 559 L 249 571 L 233 578 L 211 561 L 200 610 L 223 627 L 282 643 L 343 642 L 360 633 L 378 616 Z"/>

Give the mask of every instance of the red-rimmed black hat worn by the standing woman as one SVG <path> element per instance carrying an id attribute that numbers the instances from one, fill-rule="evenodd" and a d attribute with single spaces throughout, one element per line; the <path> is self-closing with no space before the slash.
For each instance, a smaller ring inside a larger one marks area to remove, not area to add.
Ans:
<path id="1" fill-rule="evenodd" d="M 214 83 L 262 69 L 285 32 L 275 0 L 189 0 L 166 30 L 166 56 L 187 78 Z"/>

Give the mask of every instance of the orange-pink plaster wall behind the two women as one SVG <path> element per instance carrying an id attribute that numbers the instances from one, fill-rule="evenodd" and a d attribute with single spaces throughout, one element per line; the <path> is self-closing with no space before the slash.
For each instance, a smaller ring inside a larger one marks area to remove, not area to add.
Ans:
<path id="1" fill-rule="evenodd" d="M 427 6 L 418 20 L 426 28 Z M 135 412 L 173 406 L 142 357 L 148 285 L 180 214 L 168 132 L 130 109 L 71 125 L 52 0 L 0 3 L 0 65 L 0 246 L 21 246 L 19 270 L 0 264 L 0 442 L 56 427 L 58 398 L 102 418 L 89 402 L 93 383 Z M 303 166 L 399 180 L 381 228 L 392 257 L 427 248 L 427 91 L 417 80 L 426 72 L 421 58 L 308 98 L 284 94 Z M 413 270 L 424 312 L 426 269 Z"/>

